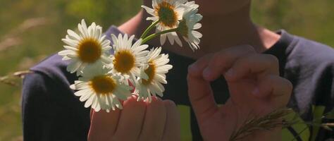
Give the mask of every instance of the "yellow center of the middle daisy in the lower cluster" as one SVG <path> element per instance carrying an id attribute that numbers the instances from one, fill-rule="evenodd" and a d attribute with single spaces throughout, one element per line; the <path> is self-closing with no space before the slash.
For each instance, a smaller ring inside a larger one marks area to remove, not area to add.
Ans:
<path id="1" fill-rule="evenodd" d="M 120 73 L 129 73 L 135 66 L 135 56 L 128 50 L 118 51 L 113 60 L 113 68 Z"/>

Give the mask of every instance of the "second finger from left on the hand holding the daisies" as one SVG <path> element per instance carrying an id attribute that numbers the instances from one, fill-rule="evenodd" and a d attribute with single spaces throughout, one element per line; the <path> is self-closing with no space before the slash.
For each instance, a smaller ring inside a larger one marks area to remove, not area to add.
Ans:
<path id="1" fill-rule="evenodd" d="M 130 97 L 123 103 L 116 133 L 113 140 L 137 140 L 142 130 L 146 104 Z"/>

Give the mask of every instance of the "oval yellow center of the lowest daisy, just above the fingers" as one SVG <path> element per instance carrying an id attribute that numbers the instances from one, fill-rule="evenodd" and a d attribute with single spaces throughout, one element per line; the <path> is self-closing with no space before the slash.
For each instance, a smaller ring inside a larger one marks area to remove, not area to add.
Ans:
<path id="1" fill-rule="evenodd" d="M 99 75 L 94 77 L 89 85 L 97 94 L 110 94 L 116 88 L 116 82 L 107 75 Z"/>

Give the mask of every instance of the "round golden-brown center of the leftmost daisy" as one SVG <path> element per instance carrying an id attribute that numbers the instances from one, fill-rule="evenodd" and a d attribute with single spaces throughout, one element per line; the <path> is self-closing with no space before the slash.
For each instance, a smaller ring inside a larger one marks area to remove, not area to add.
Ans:
<path id="1" fill-rule="evenodd" d="M 82 62 L 94 63 L 101 56 L 101 44 L 97 39 L 83 39 L 78 45 L 78 56 Z"/>

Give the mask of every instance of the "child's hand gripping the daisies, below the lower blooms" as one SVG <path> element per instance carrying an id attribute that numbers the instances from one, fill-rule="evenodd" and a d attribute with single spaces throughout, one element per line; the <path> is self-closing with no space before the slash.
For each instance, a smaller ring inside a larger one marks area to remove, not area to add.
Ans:
<path id="1" fill-rule="evenodd" d="M 88 134 L 90 141 L 180 140 L 180 117 L 174 102 L 152 97 L 137 102 L 131 97 L 123 110 L 94 112 Z"/>

